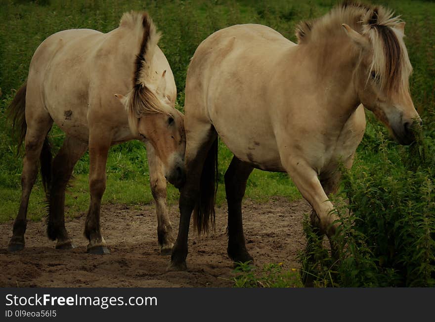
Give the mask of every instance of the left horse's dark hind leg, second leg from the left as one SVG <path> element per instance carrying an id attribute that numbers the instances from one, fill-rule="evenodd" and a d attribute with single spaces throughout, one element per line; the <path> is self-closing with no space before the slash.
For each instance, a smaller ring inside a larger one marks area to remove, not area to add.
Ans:
<path id="1" fill-rule="evenodd" d="M 86 150 L 86 143 L 67 136 L 51 165 L 52 178 L 48 195 L 47 235 L 52 241 L 57 240 L 57 249 L 74 248 L 65 228 L 65 189 L 71 178 L 74 165 Z"/>

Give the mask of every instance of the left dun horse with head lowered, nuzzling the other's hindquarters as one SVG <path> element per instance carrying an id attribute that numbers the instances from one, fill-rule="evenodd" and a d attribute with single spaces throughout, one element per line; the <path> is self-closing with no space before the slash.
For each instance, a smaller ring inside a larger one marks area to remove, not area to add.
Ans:
<path id="1" fill-rule="evenodd" d="M 90 29 L 55 33 L 35 51 L 29 74 L 9 106 L 13 126 L 25 142 L 22 195 L 8 250 L 24 248 L 29 195 L 38 159 L 48 202 L 47 235 L 57 249 L 74 248 L 65 228 L 65 188 L 74 165 L 89 150 L 87 252 L 109 252 L 100 230 L 106 161 L 112 145 L 142 141 L 157 212 L 162 253 L 174 243 L 166 207 L 168 180 L 178 186 L 184 173 L 183 115 L 174 108 L 176 87 L 158 47 L 161 34 L 146 12 L 126 12 L 119 27 L 104 34 Z M 53 124 L 65 132 L 55 158 L 47 134 Z"/>

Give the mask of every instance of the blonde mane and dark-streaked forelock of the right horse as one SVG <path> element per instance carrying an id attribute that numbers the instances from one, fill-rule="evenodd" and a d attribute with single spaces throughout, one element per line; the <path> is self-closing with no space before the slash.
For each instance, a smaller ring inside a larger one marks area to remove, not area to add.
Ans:
<path id="1" fill-rule="evenodd" d="M 345 1 L 321 18 L 301 22 L 296 28 L 298 43 L 343 37 L 341 25 L 344 23 L 370 40 L 373 60 L 367 77 L 375 71 L 377 81 L 389 93 L 409 90 L 412 66 L 403 42 L 403 28 L 400 28 L 403 22 L 383 6 Z"/>

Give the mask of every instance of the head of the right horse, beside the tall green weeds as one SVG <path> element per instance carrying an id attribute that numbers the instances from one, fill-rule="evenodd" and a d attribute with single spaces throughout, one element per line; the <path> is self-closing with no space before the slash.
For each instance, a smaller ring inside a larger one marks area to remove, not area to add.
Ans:
<path id="1" fill-rule="evenodd" d="M 400 144 L 410 144 L 413 123 L 421 126 L 422 121 L 409 93 L 412 67 L 403 42 L 405 23 L 382 7 L 368 11 L 361 22 L 361 33 L 343 24 L 360 52 L 353 74 L 358 98 Z"/>

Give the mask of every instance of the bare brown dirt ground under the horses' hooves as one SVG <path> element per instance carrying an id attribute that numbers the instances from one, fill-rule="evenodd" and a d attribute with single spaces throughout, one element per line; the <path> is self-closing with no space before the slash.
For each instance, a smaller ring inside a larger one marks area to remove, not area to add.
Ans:
<path id="1" fill-rule="evenodd" d="M 267 203 L 245 200 L 243 220 L 247 248 L 255 264 L 283 262 L 297 268 L 296 256 L 305 245 L 302 232 L 304 200 L 273 198 Z M 178 209 L 169 207 L 178 230 Z M 154 205 L 139 210 L 124 205 L 102 207 L 102 233 L 111 250 L 108 255 L 87 254 L 83 236 L 85 214 L 67 219 L 66 228 L 76 248 L 56 250 L 45 235 L 44 222 L 29 222 L 26 248 L 7 252 L 12 221 L 0 225 L 0 286 L 24 287 L 231 287 L 233 263 L 226 255 L 226 205 L 217 208 L 216 233 L 189 235 L 187 272 L 166 272 L 169 255 L 160 255 Z"/>

